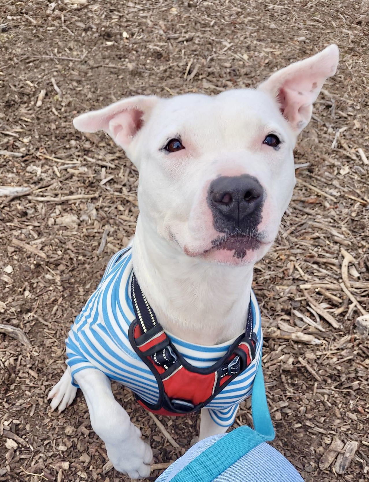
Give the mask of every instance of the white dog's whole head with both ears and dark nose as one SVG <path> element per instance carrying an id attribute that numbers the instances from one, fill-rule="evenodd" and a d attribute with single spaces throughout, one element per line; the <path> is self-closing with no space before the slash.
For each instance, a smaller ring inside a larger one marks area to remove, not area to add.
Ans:
<path id="1" fill-rule="evenodd" d="M 330 45 L 257 89 L 214 96 L 136 96 L 74 120 L 107 132 L 139 170 L 140 215 L 188 256 L 258 261 L 295 184 L 293 148 L 338 64 Z"/>

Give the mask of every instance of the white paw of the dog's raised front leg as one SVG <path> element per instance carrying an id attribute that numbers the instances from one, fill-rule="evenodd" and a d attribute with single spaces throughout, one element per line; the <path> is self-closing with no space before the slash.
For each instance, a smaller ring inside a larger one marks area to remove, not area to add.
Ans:
<path id="1" fill-rule="evenodd" d="M 150 445 L 139 437 L 133 437 L 121 447 L 106 445 L 108 457 L 114 469 L 123 472 L 131 479 L 150 476 L 152 451 Z"/>

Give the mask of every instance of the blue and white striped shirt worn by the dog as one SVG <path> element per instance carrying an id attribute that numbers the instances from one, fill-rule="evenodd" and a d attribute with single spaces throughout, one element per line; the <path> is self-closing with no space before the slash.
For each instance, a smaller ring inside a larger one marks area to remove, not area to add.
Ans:
<path id="1" fill-rule="evenodd" d="M 128 328 L 135 320 L 131 300 L 132 252 L 123 249 L 110 259 L 96 291 L 77 316 L 66 339 L 67 364 L 74 375 L 86 368 L 101 370 L 111 380 L 122 383 L 145 402 L 155 403 L 159 389 L 154 375 L 138 357 L 128 339 Z M 208 405 L 212 419 L 229 427 L 240 402 L 250 394 L 260 359 L 262 333 L 260 311 L 251 293 L 254 332 L 258 337 L 255 360 L 225 387 Z M 209 367 L 222 358 L 234 340 L 215 346 L 194 345 L 167 334 L 178 352 L 196 367 Z"/>

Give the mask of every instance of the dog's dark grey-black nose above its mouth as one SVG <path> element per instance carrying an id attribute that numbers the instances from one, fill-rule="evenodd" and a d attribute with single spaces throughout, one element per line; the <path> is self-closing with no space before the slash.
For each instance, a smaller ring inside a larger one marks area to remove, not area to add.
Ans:
<path id="1" fill-rule="evenodd" d="M 218 177 L 209 186 L 208 204 L 217 230 L 225 231 L 231 225 L 243 228 L 245 224 L 256 228 L 261 220 L 263 188 L 248 174 Z M 217 218 L 222 222 L 217 223 Z"/>

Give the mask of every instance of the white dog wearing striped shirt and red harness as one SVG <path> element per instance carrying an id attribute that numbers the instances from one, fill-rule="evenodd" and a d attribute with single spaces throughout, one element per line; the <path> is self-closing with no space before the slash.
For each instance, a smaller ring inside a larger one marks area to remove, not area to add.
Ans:
<path id="1" fill-rule="evenodd" d="M 137 96 L 74 120 L 137 166 L 140 214 L 69 332 L 49 398 L 62 411 L 80 387 L 109 459 L 132 478 L 149 475 L 152 453 L 110 379 L 155 413 L 202 409 L 200 439 L 225 432 L 251 392 L 262 346 L 253 266 L 277 234 L 297 135 L 338 57 L 330 45 L 257 89 Z"/>

